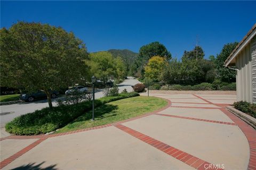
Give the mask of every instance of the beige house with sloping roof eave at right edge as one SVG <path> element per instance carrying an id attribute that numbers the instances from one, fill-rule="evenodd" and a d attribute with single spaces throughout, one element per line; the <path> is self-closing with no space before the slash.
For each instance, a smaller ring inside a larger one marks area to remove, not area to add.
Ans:
<path id="1" fill-rule="evenodd" d="M 236 70 L 237 101 L 256 103 L 256 24 L 228 56 L 224 65 Z"/>

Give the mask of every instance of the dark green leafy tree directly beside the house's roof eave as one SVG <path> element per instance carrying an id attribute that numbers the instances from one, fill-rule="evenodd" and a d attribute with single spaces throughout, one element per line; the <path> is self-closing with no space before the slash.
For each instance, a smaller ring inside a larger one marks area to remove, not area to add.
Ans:
<path id="1" fill-rule="evenodd" d="M 223 46 L 220 54 L 217 55 L 215 59 L 215 65 L 217 69 L 217 77 L 221 81 L 225 82 L 235 82 L 236 72 L 234 70 L 228 69 L 224 66 L 225 60 L 228 58 L 230 53 L 236 48 L 238 43 L 228 43 Z"/>

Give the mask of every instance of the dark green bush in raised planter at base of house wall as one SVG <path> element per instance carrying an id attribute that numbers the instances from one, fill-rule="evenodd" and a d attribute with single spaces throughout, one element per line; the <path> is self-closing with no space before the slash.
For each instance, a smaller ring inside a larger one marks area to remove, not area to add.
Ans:
<path id="1" fill-rule="evenodd" d="M 239 111 L 256 118 L 256 104 L 251 104 L 246 101 L 237 101 L 233 104 L 233 106 Z"/>

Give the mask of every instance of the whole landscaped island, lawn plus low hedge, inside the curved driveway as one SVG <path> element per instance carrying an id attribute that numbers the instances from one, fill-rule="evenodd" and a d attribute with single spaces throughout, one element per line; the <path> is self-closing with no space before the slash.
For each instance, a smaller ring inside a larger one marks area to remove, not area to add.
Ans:
<path id="1" fill-rule="evenodd" d="M 137 92 L 121 93 L 118 96 L 102 97 L 95 100 L 95 121 L 93 122 L 91 121 L 92 103 L 83 101 L 52 109 L 43 108 L 21 115 L 7 123 L 5 129 L 7 132 L 17 135 L 42 134 L 62 127 L 58 132 L 66 132 L 122 121 L 155 111 L 166 104 L 167 101 L 164 99 L 139 96 Z"/>

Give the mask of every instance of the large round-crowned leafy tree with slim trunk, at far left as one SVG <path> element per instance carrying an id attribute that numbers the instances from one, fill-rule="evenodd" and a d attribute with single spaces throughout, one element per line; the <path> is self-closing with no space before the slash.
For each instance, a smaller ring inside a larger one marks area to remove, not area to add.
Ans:
<path id="1" fill-rule="evenodd" d="M 72 32 L 49 24 L 18 22 L 1 29 L 1 86 L 51 90 L 86 79 L 85 45 Z"/>

